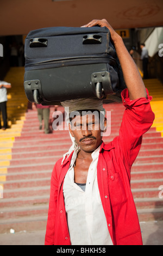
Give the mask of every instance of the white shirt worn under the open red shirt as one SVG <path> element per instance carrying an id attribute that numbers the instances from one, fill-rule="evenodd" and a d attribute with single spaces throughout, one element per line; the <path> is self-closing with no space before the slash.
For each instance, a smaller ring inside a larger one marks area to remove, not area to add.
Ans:
<path id="1" fill-rule="evenodd" d="M 74 183 L 77 151 L 65 176 L 63 192 L 72 245 L 112 245 L 97 183 L 99 149 L 92 153 L 85 191 Z"/>

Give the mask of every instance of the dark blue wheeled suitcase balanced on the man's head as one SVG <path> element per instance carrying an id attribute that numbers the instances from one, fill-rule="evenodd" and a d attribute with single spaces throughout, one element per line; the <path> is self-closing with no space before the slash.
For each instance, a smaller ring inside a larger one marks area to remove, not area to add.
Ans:
<path id="1" fill-rule="evenodd" d="M 123 74 L 106 27 L 52 27 L 25 41 L 24 89 L 30 102 L 59 105 L 83 97 L 121 101 Z"/>

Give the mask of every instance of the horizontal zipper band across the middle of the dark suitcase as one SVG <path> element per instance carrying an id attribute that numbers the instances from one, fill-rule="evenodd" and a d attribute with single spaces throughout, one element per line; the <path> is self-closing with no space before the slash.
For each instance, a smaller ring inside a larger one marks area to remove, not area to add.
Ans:
<path id="1" fill-rule="evenodd" d="M 28 63 L 29 62 L 29 63 Z M 96 63 L 109 63 L 111 65 L 116 65 L 116 59 L 111 57 L 78 57 L 72 59 L 48 59 L 40 61 L 40 59 L 35 59 L 30 61 L 26 59 L 25 71 L 35 70 L 35 69 L 50 69 L 50 68 L 60 68 L 62 66 L 73 66 L 73 65 L 85 65 L 85 64 L 96 64 Z"/>

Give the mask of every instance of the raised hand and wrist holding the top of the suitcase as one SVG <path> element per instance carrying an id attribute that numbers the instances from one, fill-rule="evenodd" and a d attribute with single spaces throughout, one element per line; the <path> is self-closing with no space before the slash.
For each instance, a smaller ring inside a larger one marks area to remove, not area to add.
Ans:
<path id="1" fill-rule="evenodd" d="M 114 42 L 114 44 L 117 43 L 118 40 L 121 39 L 121 36 L 118 35 L 115 30 L 111 27 L 111 25 L 106 21 L 105 19 L 103 20 L 92 20 L 91 22 L 87 23 L 86 25 L 82 27 L 93 27 L 93 26 L 101 26 L 101 27 L 106 27 L 110 31 L 111 39 Z"/>

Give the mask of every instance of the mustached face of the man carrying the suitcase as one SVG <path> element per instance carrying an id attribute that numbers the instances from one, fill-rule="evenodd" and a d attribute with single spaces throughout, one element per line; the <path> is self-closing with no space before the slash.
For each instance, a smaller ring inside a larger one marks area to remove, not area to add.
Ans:
<path id="1" fill-rule="evenodd" d="M 106 126 L 106 121 L 103 120 Z M 71 135 L 75 138 L 80 150 L 87 153 L 95 151 L 102 142 L 102 129 L 98 114 L 77 115 L 69 126 Z M 103 129 L 104 130 L 104 129 Z"/>

